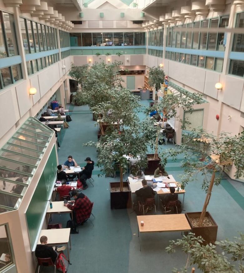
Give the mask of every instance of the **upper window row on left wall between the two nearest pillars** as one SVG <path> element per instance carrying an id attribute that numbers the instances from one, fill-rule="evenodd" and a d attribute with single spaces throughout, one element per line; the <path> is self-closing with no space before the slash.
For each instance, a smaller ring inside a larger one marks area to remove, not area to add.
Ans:
<path id="1" fill-rule="evenodd" d="M 25 18 L 20 18 L 20 25 L 25 53 L 58 48 L 56 29 Z"/>

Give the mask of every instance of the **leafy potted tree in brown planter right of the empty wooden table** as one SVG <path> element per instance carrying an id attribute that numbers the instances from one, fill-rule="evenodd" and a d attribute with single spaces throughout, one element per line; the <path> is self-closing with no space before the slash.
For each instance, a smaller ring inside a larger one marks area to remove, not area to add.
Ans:
<path id="1" fill-rule="evenodd" d="M 203 149 L 203 143 L 207 144 L 207 149 Z M 186 218 L 196 236 L 201 235 L 205 242 L 213 243 L 216 241 L 218 227 L 211 214 L 207 212 L 207 206 L 213 186 L 220 184 L 222 173 L 228 166 L 233 164 L 236 166 L 237 178 L 244 174 L 244 131 L 234 136 L 222 132 L 216 137 L 202 128 L 195 128 L 184 134 L 184 142 L 176 149 L 164 150 L 161 154 L 162 162 L 166 162 L 167 158 L 176 160 L 179 154 L 184 154 L 184 161 L 181 162 L 184 168 L 181 188 L 184 189 L 190 181 L 196 180 L 198 173 L 201 173 L 202 189 L 206 191 L 202 211 L 188 212 Z"/>

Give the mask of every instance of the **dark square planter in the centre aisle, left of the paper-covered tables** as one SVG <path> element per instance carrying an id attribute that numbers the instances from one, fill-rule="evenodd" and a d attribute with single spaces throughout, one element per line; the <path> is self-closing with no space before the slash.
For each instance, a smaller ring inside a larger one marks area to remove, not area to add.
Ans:
<path id="1" fill-rule="evenodd" d="M 125 192 L 112 192 L 113 187 L 119 187 L 119 182 L 110 182 L 110 206 L 111 209 L 130 208 L 131 207 L 131 190 L 128 182 L 123 182 L 124 186 L 129 187 L 129 191 Z"/>

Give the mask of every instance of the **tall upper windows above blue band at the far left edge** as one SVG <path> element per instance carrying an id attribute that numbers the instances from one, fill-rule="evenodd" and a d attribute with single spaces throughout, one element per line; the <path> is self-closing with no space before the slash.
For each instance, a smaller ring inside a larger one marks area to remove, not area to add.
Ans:
<path id="1" fill-rule="evenodd" d="M 13 14 L 0 11 L 0 58 L 18 54 Z"/>

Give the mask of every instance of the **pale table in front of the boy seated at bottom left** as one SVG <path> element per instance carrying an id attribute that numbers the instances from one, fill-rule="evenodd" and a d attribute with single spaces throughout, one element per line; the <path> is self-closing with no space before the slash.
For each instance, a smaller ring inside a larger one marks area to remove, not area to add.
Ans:
<path id="1" fill-rule="evenodd" d="M 55 229 L 42 229 L 38 238 L 38 244 L 40 243 L 40 238 L 42 236 L 48 237 L 48 245 L 50 246 L 58 246 L 60 244 L 67 245 L 68 251 L 68 261 L 69 261 L 69 246 L 71 249 L 71 241 L 70 241 L 70 228 L 55 228 Z"/>

